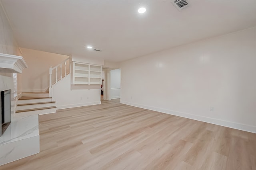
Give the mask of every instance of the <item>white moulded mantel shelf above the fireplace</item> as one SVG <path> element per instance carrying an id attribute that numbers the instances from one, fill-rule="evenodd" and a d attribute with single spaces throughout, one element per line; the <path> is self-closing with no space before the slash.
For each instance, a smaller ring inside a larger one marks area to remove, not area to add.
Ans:
<path id="1" fill-rule="evenodd" d="M 0 72 L 22 73 L 24 68 L 28 68 L 23 57 L 0 53 Z"/>

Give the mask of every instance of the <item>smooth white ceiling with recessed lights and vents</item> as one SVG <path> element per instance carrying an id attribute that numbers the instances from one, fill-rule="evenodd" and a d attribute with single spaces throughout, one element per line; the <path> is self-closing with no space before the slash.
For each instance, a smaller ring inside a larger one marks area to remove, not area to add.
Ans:
<path id="1" fill-rule="evenodd" d="M 256 0 L 1 1 L 20 47 L 112 62 L 256 25 Z"/>

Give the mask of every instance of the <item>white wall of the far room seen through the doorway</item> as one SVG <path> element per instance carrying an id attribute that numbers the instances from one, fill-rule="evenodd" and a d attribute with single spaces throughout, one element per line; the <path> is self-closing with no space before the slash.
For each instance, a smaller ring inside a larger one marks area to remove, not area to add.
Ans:
<path id="1" fill-rule="evenodd" d="M 110 70 L 110 99 L 120 98 L 121 70 Z"/>

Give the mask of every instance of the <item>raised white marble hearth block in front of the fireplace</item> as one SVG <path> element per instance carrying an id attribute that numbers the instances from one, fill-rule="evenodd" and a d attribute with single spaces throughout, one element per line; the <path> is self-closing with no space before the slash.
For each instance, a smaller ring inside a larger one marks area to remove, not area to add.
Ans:
<path id="1" fill-rule="evenodd" d="M 39 153 L 38 115 L 13 117 L 0 137 L 0 165 Z"/>

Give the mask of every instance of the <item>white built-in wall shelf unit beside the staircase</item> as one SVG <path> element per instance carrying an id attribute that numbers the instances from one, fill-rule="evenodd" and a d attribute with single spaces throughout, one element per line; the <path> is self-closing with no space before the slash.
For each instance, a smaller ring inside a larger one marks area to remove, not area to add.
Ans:
<path id="1" fill-rule="evenodd" d="M 102 84 L 102 66 L 78 63 L 72 64 L 72 84 Z"/>

